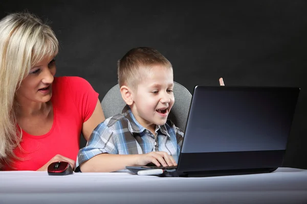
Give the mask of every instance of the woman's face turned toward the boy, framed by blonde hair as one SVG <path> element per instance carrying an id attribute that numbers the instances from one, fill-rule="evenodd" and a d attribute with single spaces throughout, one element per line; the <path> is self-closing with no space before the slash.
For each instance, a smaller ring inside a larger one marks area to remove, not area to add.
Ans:
<path id="1" fill-rule="evenodd" d="M 52 96 L 52 82 L 56 72 L 53 57 L 45 57 L 36 63 L 16 92 L 19 104 L 24 102 L 46 103 Z"/>

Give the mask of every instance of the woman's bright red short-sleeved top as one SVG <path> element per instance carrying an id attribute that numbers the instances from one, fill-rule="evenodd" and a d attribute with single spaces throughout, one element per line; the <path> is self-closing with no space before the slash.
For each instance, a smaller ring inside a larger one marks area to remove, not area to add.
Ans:
<path id="1" fill-rule="evenodd" d="M 16 160 L 3 170 L 37 170 L 55 155 L 76 160 L 79 150 L 82 123 L 91 117 L 98 100 L 98 93 L 89 82 L 79 77 L 54 78 L 52 84 L 53 124 L 51 130 L 41 136 L 23 131 L 21 147 Z"/>

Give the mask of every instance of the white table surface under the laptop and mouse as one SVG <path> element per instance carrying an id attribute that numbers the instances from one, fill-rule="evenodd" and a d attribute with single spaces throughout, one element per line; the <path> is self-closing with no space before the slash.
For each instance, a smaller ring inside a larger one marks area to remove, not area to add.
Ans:
<path id="1" fill-rule="evenodd" d="M 307 170 L 216 177 L 0 171 L 0 203 L 307 203 Z"/>

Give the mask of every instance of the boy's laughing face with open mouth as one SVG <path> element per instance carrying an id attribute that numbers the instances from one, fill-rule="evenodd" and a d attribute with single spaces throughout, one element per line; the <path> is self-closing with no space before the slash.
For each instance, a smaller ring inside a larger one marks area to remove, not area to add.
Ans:
<path id="1" fill-rule="evenodd" d="M 153 66 L 142 75 L 130 107 L 142 126 L 155 131 L 156 124 L 165 124 L 174 104 L 173 72 L 163 66 Z"/>

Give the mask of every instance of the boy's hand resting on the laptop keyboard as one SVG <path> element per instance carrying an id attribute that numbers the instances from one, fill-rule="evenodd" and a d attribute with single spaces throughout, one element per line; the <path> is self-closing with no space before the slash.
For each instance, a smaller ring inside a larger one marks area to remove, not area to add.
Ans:
<path id="1" fill-rule="evenodd" d="M 150 162 L 156 166 L 177 166 L 174 158 L 165 151 L 151 151 L 147 154 L 139 155 L 136 165 L 144 166 Z"/>

